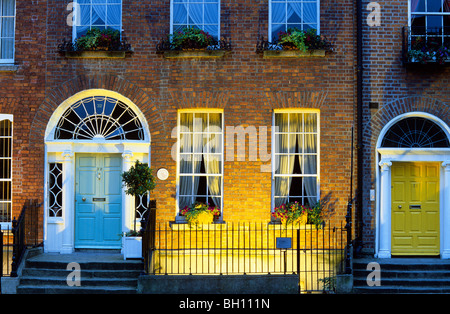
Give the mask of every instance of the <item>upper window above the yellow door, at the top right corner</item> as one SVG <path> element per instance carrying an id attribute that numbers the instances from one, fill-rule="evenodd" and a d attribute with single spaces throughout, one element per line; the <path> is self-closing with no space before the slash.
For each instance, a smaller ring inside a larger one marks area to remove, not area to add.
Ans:
<path id="1" fill-rule="evenodd" d="M 450 0 L 411 0 L 412 36 L 434 37 L 438 44 L 450 43 Z"/>

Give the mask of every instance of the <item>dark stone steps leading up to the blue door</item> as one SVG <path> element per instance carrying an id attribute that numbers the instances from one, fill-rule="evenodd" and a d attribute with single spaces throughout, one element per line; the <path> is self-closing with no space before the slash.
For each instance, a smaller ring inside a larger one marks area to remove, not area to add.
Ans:
<path id="1" fill-rule="evenodd" d="M 72 262 L 79 265 L 80 286 L 70 286 L 67 282 L 68 276 L 74 274 L 74 269 L 68 267 Z M 17 293 L 136 293 L 142 270 L 142 261 L 124 261 L 120 254 L 41 254 L 26 261 Z"/>

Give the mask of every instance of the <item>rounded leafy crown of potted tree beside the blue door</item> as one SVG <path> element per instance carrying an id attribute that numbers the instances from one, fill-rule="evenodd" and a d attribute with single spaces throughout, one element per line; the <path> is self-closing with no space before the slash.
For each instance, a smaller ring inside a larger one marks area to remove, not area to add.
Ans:
<path id="1" fill-rule="evenodd" d="M 153 190 L 156 186 L 156 179 L 152 174 L 152 169 L 147 164 L 136 160 L 130 170 L 122 173 L 122 182 L 127 187 L 125 193 L 138 196 Z"/>

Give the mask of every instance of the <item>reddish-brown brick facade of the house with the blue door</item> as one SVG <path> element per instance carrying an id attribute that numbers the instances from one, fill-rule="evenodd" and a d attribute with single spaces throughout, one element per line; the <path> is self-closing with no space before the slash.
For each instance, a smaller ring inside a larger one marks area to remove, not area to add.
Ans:
<path id="1" fill-rule="evenodd" d="M 28 2 L 18 0 L 21 5 Z M 124 35 L 134 49 L 126 59 L 67 59 L 57 47 L 64 38 L 71 38 L 71 27 L 66 25 L 68 2 L 37 1 L 40 14 L 48 7 L 47 25 L 39 24 L 42 29 L 32 34 L 28 34 L 29 27 L 17 31 L 18 38 L 28 36 L 35 41 L 31 47 L 24 44 L 34 59 L 20 57 L 21 48 L 16 59 L 20 67 L 30 62 L 37 82 L 33 90 L 20 85 L 9 92 L 22 106 L 22 113 L 14 112 L 20 123 L 15 156 L 20 156 L 22 175 L 27 178 L 15 178 L 15 198 L 19 200 L 22 194 L 18 191 L 27 189 L 43 198 L 43 137 L 53 110 L 78 91 L 105 88 L 130 98 L 141 109 L 152 137 L 152 166 L 169 170 L 168 180 L 158 181 L 154 192 L 159 219 L 175 217 L 176 163 L 171 148 L 176 138 L 171 134 L 178 109 L 222 108 L 226 126 L 266 126 L 271 132 L 273 109 L 318 108 L 321 195 L 329 199 L 328 219 L 344 220 L 355 106 L 353 1 L 321 1 L 321 33 L 333 43 L 333 53 L 292 60 L 263 59 L 255 52 L 258 37 L 267 38 L 268 33 L 268 2 L 262 0 L 221 1 L 221 34 L 231 38 L 233 50 L 220 59 L 168 60 L 156 53 L 156 45 L 169 32 L 169 0 L 124 1 Z M 38 14 L 38 21 L 43 16 Z M 46 38 L 42 37 L 45 29 Z M 32 84 L 31 73 L 21 71 L 8 77 L 8 82 L 20 84 L 20 76 Z M 20 153 L 19 145 L 23 146 Z M 269 162 L 259 156 L 254 161 L 248 151 L 244 161 L 224 164 L 225 221 L 270 220 L 271 175 L 260 171 Z"/>

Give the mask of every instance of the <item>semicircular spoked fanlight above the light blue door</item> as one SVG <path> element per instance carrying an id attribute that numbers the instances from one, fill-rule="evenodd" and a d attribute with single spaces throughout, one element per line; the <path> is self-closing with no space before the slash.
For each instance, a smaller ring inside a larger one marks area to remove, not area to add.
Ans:
<path id="1" fill-rule="evenodd" d="M 144 140 L 144 130 L 134 111 L 120 100 L 93 96 L 64 112 L 55 130 L 56 140 Z"/>

